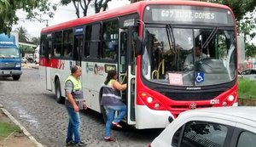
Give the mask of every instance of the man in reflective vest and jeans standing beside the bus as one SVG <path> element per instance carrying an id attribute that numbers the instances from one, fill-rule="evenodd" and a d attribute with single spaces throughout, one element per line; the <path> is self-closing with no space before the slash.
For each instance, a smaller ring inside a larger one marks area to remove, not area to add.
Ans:
<path id="1" fill-rule="evenodd" d="M 86 144 L 81 141 L 79 133 L 81 123 L 79 110 L 87 109 L 82 91 L 82 84 L 79 80 L 79 76 L 81 75 L 82 68 L 79 65 L 74 65 L 71 67 L 71 75 L 67 77 L 65 82 L 65 106 L 69 116 L 66 139 L 67 145 L 86 146 Z"/>

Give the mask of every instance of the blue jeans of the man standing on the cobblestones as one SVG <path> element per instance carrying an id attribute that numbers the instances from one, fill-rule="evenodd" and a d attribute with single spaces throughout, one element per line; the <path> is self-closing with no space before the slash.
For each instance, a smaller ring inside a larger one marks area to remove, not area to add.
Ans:
<path id="1" fill-rule="evenodd" d="M 79 144 L 80 140 L 80 116 L 79 112 L 75 112 L 73 108 L 66 107 L 67 113 L 69 116 L 69 122 L 67 127 L 67 139 L 66 142 L 73 140 L 74 136 L 74 143 Z"/>

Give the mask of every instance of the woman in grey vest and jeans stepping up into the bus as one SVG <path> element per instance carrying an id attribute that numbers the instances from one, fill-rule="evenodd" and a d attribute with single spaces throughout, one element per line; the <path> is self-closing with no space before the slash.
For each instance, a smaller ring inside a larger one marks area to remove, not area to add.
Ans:
<path id="1" fill-rule="evenodd" d="M 107 114 L 107 122 L 105 127 L 105 141 L 115 141 L 110 137 L 110 129 L 113 125 L 114 127 L 122 127 L 119 125 L 121 119 L 126 115 L 126 105 L 122 102 L 120 91 L 125 90 L 127 84 L 120 84 L 117 81 L 118 73 L 115 70 L 108 71 L 108 76 L 104 82 L 105 86 L 102 91 L 102 101 Z M 114 112 L 118 110 L 119 115 L 114 118 Z"/>

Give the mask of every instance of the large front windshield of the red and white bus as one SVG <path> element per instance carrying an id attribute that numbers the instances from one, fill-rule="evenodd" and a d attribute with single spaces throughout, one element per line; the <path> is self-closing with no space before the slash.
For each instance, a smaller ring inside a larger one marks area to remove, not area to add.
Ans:
<path id="1" fill-rule="evenodd" d="M 142 73 L 150 82 L 204 86 L 236 78 L 233 30 L 146 27 L 145 42 Z"/>

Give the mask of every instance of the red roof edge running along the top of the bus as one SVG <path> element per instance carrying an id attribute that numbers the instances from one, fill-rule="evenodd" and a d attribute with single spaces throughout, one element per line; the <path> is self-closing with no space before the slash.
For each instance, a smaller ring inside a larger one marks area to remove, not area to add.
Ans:
<path id="1" fill-rule="evenodd" d="M 97 14 L 91 14 L 79 19 L 70 20 L 63 22 L 58 25 L 52 25 L 42 29 L 41 33 L 47 33 L 51 31 L 58 31 L 62 29 L 71 28 L 74 26 L 90 24 L 100 20 L 108 20 L 118 16 L 124 16 L 127 14 L 141 14 L 143 13 L 143 8 L 149 4 L 173 4 L 173 5 L 189 5 L 189 6 L 202 6 L 202 7 L 212 7 L 212 8 L 224 8 L 232 11 L 228 6 L 217 4 L 217 3 L 207 3 L 207 2 L 198 2 L 198 1 L 181 1 L 181 0 L 160 0 L 160 1 L 140 1 L 137 3 L 131 3 L 123 7 L 114 8 Z"/>

